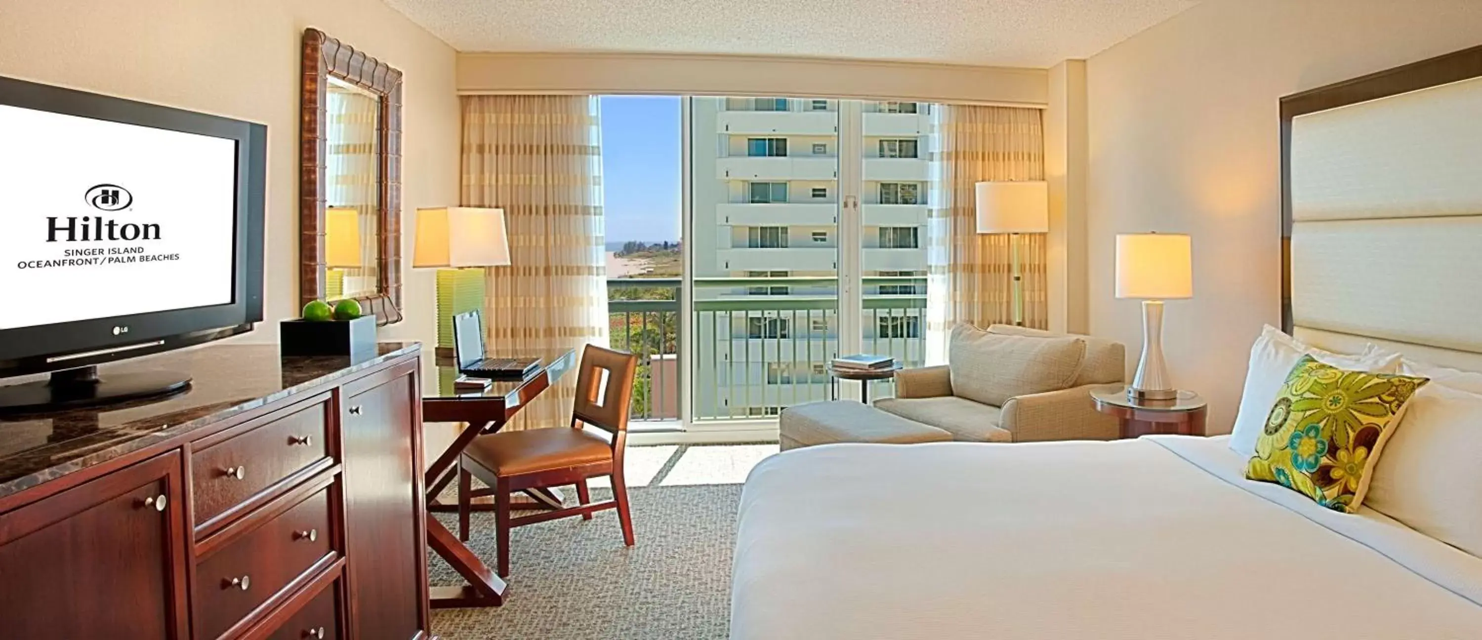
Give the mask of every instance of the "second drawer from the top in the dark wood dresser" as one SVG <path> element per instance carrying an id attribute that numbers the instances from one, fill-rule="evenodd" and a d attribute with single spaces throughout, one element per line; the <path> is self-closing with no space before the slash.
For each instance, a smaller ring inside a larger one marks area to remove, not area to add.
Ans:
<path id="1" fill-rule="evenodd" d="M 216 639 L 333 553 L 326 487 L 196 563 L 196 639 Z"/>

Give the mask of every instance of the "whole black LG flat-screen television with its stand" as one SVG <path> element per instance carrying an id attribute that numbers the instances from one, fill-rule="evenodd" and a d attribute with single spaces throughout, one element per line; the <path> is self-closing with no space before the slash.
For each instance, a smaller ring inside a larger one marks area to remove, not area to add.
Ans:
<path id="1" fill-rule="evenodd" d="M 267 127 L 0 77 L 0 412 L 138 400 L 98 364 L 262 320 Z"/>

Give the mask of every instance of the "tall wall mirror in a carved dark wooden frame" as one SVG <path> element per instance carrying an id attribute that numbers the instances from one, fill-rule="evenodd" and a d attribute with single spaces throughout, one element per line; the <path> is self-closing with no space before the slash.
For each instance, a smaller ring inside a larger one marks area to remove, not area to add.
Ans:
<path id="1" fill-rule="evenodd" d="M 402 71 L 304 30 L 299 304 L 402 320 Z"/>

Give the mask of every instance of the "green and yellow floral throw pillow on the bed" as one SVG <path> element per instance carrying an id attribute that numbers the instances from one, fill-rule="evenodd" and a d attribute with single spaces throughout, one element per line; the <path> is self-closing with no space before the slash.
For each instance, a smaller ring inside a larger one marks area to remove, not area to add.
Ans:
<path id="1" fill-rule="evenodd" d="M 1286 375 L 1245 477 L 1356 513 L 1380 449 L 1427 378 L 1338 369 L 1303 356 Z"/>

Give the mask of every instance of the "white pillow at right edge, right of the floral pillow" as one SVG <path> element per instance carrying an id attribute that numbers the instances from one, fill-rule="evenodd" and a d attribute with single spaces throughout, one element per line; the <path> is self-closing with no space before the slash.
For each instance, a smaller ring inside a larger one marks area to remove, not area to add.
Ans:
<path id="1" fill-rule="evenodd" d="M 1427 384 L 1405 404 L 1363 505 L 1482 557 L 1482 396 Z"/>

